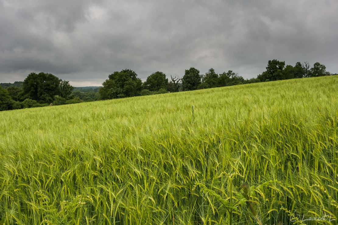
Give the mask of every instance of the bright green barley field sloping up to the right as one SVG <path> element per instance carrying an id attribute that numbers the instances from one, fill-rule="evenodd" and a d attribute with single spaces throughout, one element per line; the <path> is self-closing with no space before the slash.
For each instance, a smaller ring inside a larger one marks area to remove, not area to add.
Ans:
<path id="1" fill-rule="evenodd" d="M 5 111 L 0 128 L 0 224 L 337 223 L 337 76 Z"/>

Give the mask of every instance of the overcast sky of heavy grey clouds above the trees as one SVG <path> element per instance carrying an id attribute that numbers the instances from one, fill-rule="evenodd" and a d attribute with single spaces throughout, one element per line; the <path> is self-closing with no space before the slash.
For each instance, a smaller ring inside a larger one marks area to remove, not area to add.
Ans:
<path id="1" fill-rule="evenodd" d="M 338 73 L 337 11 L 337 0 L 0 0 L 0 82 L 48 72 L 100 86 L 125 68 L 143 81 L 190 67 L 252 78 L 270 59 Z"/>

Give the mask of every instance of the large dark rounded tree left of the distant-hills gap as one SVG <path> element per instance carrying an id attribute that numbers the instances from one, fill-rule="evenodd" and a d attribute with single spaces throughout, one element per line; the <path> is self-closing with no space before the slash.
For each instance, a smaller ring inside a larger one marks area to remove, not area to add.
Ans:
<path id="1" fill-rule="evenodd" d="M 39 103 L 52 103 L 54 96 L 60 93 L 60 80 L 49 73 L 30 73 L 23 81 L 25 98 Z"/>

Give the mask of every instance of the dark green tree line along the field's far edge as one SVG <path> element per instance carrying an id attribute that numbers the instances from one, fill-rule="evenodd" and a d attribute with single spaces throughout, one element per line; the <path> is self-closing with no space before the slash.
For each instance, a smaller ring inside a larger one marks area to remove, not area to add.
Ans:
<path id="1" fill-rule="evenodd" d="M 69 81 L 52 74 L 30 73 L 23 82 L 1 84 L 6 89 L 0 86 L 0 111 L 329 75 L 333 74 L 319 62 L 313 66 L 297 62 L 292 66 L 276 59 L 269 60 L 266 70 L 251 79 L 244 79 L 231 70 L 217 74 L 213 68 L 201 75 L 198 69 L 191 67 L 182 78 L 170 76 L 169 81 L 163 72 L 157 71 L 142 82 L 135 71 L 124 69 L 108 75 L 100 88 L 74 88 Z"/>

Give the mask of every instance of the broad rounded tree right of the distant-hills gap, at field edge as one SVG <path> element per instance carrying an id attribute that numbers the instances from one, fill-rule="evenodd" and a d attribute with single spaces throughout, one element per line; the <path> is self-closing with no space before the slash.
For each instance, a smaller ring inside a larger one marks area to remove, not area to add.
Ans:
<path id="1" fill-rule="evenodd" d="M 99 89 L 100 100 L 138 96 L 142 90 L 141 79 L 130 69 L 114 72 L 102 85 Z"/>

